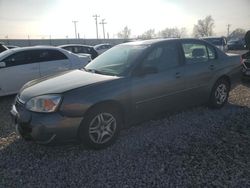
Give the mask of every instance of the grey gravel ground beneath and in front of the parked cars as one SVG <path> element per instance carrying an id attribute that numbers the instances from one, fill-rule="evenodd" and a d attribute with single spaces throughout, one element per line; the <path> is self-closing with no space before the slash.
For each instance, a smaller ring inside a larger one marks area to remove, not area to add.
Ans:
<path id="1" fill-rule="evenodd" d="M 250 83 L 221 110 L 145 122 L 101 151 L 23 141 L 12 100 L 0 98 L 0 187 L 250 187 Z"/>

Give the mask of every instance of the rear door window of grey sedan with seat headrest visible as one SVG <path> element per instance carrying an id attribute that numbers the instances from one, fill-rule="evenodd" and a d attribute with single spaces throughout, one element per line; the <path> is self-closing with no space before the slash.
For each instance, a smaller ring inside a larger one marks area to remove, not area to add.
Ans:
<path id="1" fill-rule="evenodd" d="M 208 61 L 207 48 L 199 43 L 183 43 L 184 55 L 187 63 L 200 63 Z"/>

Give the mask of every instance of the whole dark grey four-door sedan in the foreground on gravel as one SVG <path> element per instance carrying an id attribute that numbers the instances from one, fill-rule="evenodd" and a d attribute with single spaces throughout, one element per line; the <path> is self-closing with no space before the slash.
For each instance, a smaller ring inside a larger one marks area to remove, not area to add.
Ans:
<path id="1" fill-rule="evenodd" d="M 240 79 L 240 56 L 198 39 L 120 44 L 84 69 L 27 83 L 11 110 L 26 140 L 79 139 L 100 149 L 120 129 L 165 110 L 221 108 Z"/>

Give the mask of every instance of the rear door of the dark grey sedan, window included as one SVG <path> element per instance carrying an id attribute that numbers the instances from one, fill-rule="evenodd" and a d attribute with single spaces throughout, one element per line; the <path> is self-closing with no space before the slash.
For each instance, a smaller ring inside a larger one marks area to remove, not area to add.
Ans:
<path id="1" fill-rule="evenodd" d="M 208 100 L 210 86 L 216 71 L 217 55 L 214 47 L 201 41 L 183 41 L 187 102 L 203 103 Z"/>

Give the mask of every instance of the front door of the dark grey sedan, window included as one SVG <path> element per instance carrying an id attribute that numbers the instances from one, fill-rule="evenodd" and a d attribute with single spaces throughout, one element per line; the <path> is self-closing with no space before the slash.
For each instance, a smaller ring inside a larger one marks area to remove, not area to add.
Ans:
<path id="1" fill-rule="evenodd" d="M 185 90 L 184 66 L 178 45 L 173 41 L 154 47 L 142 61 L 132 80 L 135 114 L 148 116 L 180 105 Z"/>

